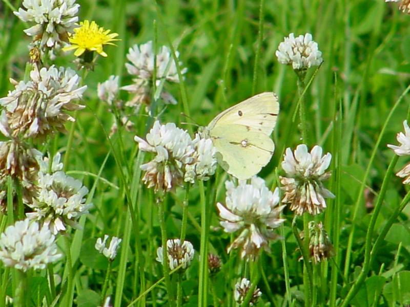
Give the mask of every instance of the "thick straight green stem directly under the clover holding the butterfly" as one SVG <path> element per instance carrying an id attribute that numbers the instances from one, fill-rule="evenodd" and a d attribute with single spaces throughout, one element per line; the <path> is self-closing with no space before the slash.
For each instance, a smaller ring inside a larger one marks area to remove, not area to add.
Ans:
<path id="1" fill-rule="evenodd" d="M 208 306 L 208 237 L 207 237 L 207 203 L 203 181 L 198 181 L 200 206 L 201 206 L 201 238 L 199 255 L 199 288 L 198 306 Z"/>

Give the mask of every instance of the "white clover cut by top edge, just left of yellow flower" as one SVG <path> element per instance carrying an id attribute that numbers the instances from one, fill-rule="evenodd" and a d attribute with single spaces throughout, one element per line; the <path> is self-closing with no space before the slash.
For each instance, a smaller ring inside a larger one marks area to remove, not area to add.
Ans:
<path id="1" fill-rule="evenodd" d="M 35 25 L 24 32 L 39 41 L 41 48 L 56 47 L 68 41 L 69 33 L 78 21 L 79 4 L 75 0 L 24 0 L 23 7 L 14 14 Z"/>

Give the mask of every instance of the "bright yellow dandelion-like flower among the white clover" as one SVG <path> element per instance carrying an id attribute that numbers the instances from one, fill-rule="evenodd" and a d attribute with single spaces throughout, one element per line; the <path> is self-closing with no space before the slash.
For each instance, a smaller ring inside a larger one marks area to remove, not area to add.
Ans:
<path id="1" fill-rule="evenodd" d="M 104 52 L 104 45 L 114 45 L 111 41 L 115 39 L 117 33 L 110 33 L 111 30 L 104 30 L 103 27 L 98 27 L 95 21 L 84 20 L 78 28 L 74 29 L 74 34 L 69 37 L 71 46 L 63 48 L 63 51 L 75 50 L 74 55 L 80 56 L 86 50 L 96 51 L 101 56 L 107 56 Z M 110 33 L 110 34 L 109 34 Z"/>

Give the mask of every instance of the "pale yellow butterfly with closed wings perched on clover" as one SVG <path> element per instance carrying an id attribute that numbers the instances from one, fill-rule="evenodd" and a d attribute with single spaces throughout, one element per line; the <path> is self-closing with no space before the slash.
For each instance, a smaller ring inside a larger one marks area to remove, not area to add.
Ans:
<path id="1" fill-rule="evenodd" d="M 261 93 L 218 114 L 203 135 L 212 140 L 224 170 L 240 180 L 249 179 L 272 158 L 275 144 L 270 136 L 278 114 L 276 94 Z"/>

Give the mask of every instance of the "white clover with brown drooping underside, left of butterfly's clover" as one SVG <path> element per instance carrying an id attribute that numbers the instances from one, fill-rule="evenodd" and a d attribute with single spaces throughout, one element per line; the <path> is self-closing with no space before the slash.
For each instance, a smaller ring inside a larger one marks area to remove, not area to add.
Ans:
<path id="1" fill-rule="evenodd" d="M 195 145 L 188 132 L 174 123 L 161 125 L 155 121 L 146 138 L 147 141 L 134 137 L 140 150 L 156 154 L 152 161 L 141 165 L 146 171 L 142 180 L 155 191 L 169 191 L 181 185 L 185 166 L 193 163 L 195 158 Z"/>

